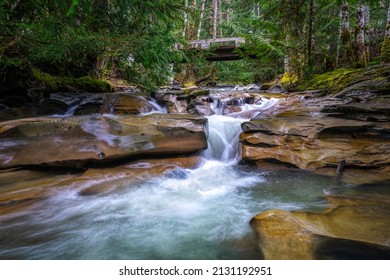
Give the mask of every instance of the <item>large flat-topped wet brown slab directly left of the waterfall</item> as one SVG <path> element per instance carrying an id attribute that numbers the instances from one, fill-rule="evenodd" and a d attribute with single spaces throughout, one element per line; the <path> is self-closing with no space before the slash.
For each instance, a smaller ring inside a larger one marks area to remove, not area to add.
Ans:
<path id="1" fill-rule="evenodd" d="M 70 166 L 207 148 L 206 119 L 192 115 L 31 118 L 0 123 L 0 168 Z"/>

